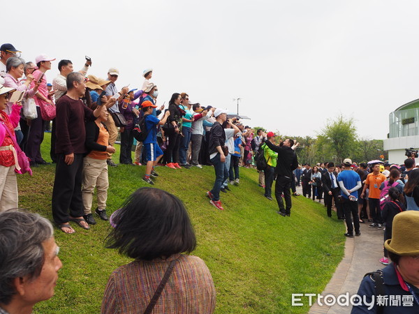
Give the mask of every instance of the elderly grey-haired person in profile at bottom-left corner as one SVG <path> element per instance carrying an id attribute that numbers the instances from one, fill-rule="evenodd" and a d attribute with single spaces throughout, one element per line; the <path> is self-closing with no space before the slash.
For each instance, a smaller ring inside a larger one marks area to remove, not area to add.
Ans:
<path id="1" fill-rule="evenodd" d="M 32 313 L 50 299 L 61 269 L 49 220 L 19 209 L 0 213 L 0 313 Z"/>

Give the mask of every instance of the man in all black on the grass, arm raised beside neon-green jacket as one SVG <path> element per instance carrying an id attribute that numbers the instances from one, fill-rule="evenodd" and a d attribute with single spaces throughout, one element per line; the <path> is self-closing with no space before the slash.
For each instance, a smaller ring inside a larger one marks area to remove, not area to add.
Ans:
<path id="1" fill-rule="evenodd" d="M 263 134 L 265 136 L 265 134 Z M 293 171 L 298 167 L 297 155 L 291 148 L 294 146 L 294 141 L 286 139 L 281 142 L 279 146 L 272 144 L 270 140 L 266 142 L 267 147 L 278 153 L 277 167 L 275 167 L 275 174 L 277 174 L 277 183 L 275 184 L 275 197 L 277 198 L 279 211 L 281 216 L 291 215 L 291 180 L 293 179 Z M 282 193 L 284 193 L 285 204 L 282 200 Z"/>

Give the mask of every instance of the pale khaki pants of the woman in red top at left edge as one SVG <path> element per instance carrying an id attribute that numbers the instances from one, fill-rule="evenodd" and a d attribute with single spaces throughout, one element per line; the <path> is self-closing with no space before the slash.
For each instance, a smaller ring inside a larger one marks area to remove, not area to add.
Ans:
<path id="1" fill-rule="evenodd" d="M 15 165 L 0 165 L 0 212 L 17 208 L 17 178 Z"/>

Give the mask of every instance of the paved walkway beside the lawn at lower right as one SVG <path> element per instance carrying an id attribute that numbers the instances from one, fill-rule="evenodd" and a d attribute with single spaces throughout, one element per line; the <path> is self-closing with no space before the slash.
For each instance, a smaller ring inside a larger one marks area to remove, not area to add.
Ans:
<path id="1" fill-rule="evenodd" d="M 297 192 L 302 194 L 301 188 L 297 187 Z M 342 221 L 342 223 L 344 222 Z M 356 294 L 365 274 L 384 267 L 379 262 L 383 257 L 383 230 L 369 227 L 369 223 L 365 220 L 365 223 L 360 224 L 360 231 L 360 237 L 346 238 L 344 258 L 321 293 L 323 297 L 328 294 L 337 297 L 339 294 L 346 294 L 346 292 L 349 293 L 349 296 Z M 342 237 L 344 237 L 343 231 Z M 322 304 L 323 306 L 317 303 L 311 306 L 309 313 L 351 313 L 351 306 L 339 306 L 338 304 L 325 306 L 324 303 Z"/>

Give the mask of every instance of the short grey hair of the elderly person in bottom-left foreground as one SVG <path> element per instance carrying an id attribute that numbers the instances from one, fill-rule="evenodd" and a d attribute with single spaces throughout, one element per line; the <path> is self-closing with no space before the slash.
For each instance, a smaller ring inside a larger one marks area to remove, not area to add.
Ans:
<path id="1" fill-rule="evenodd" d="M 45 262 L 43 242 L 51 239 L 50 220 L 22 209 L 0 213 L 0 304 L 16 294 L 15 278 L 41 274 Z"/>

